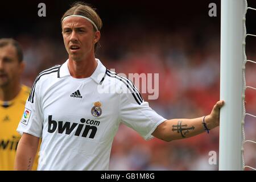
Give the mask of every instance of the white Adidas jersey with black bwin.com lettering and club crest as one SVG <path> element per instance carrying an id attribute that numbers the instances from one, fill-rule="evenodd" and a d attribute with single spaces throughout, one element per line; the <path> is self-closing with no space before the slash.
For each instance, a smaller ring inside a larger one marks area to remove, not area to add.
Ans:
<path id="1" fill-rule="evenodd" d="M 42 138 L 38 170 L 108 170 L 121 122 L 148 140 L 166 121 L 130 80 L 96 61 L 88 78 L 73 78 L 68 60 L 36 78 L 17 131 Z"/>

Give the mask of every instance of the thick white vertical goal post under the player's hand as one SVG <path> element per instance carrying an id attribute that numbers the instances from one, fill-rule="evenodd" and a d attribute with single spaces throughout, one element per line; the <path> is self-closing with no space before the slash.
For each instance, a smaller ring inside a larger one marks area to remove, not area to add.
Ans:
<path id="1" fill-rule="evenodd" d="M 243 17 L 245 1 L 221 0 L 221 71 L 219 170 L 243 170 Z"/>

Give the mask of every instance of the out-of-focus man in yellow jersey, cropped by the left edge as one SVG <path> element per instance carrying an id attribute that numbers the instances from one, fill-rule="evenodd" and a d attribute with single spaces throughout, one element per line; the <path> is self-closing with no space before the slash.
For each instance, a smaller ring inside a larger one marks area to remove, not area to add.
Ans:
<path id="1" fill-rule="evenodd" d="M 0 170 L 13 170 L 20 139 L 16 131 L 30 88 L 20 83 L 23 53 L 13 39 L 0 39 Z M 38 161 L 35 160 L 33 169 Z"/>

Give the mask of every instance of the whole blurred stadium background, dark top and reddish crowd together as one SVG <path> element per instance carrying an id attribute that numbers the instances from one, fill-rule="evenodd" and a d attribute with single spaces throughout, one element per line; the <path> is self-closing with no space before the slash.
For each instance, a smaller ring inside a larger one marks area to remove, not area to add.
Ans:
<path id="1" fill-rule="evenodd" d="M 46 3 L 46 17 L 38 4 Z M 60 19 L 73 1 L 1 1 L 0 38 L 11 37 L 24 49 L 22 82 L 32 85 L 43 69 L 67 59 Z M 159 98 L 150 106 L 167 119 L 209 114 L 220 90 L 220 0 L 212 1 L 86 1 L 103 22 L 97 57 L 121 73 L 159 73 Z M 217 17 L 209 17 L 209 3 Z M 256 7 L 256 2 L 248 1 Z M 256 34 L 247 14 L 247 32 Z M 247 58 L 256 60 L 256 38 L 247 39 Z M 254 64 L 246 66 L 247 85 L 256 86 Z M 147 94 L 142 94 L 147 101 Z M 256 92 L 246 91 L 247 112 L 256 114 Z M 113 106 L 114 107 L 114 106 Z M 246 117 L 246 139 L 256 139 L 256 121 Z M 256 166 L 256 147 L 245 145 L 245 162 Z M 210 134 L 176 140 L 144 141 L 135 131 L 119 127 L 112 148 L 112 170 L 217 170 L 209 151 L 218 154 L 218 128 Z"/>

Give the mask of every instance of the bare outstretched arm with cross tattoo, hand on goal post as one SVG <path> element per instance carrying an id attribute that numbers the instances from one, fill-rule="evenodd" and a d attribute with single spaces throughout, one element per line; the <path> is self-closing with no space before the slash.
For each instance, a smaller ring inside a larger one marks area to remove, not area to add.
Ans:
<path id="1" fill-rule="evenodd" d="M 220 108 L 224 105 L 224 101 L 218 101 L 213 106 L 212 112 L 204 117 L 193 119 L 170 119 L 161 123 L 156 127 L 152 135 L 156 138 L 171 141 L 193 137 L 197 134 L 205 132 L 205 126 L 211 130 L 220 125 Z"/>

